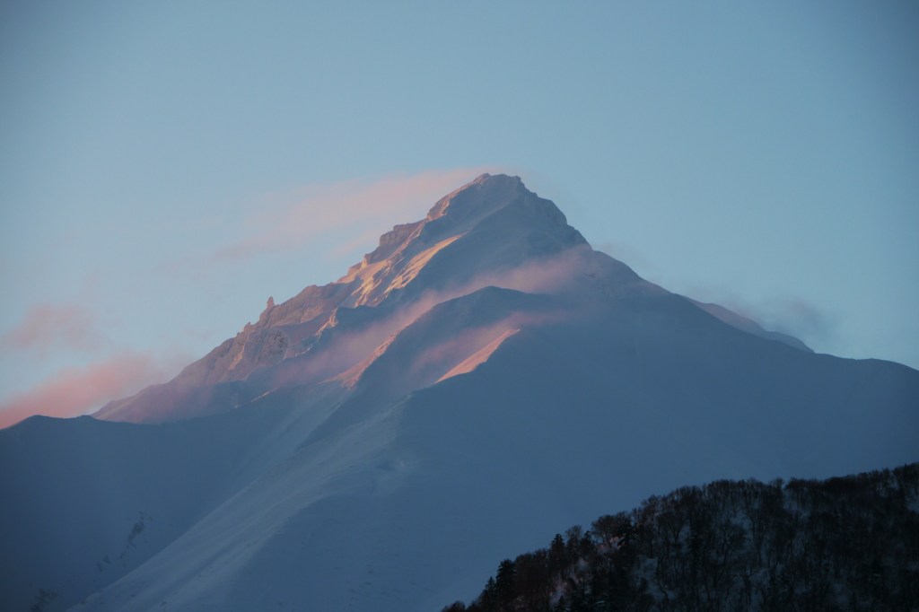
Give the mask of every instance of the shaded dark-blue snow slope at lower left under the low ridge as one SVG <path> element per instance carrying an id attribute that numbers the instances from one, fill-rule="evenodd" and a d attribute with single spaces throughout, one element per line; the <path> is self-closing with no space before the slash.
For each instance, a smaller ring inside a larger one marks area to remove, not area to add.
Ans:
<path id="1" fill-rule="evenodd" d="M 73 603 L 165 548 L 266 468 L 261 447 L 290 412 L 155 427 L 37 416 L 0 431 L 4 609 L 42 590 Z"/>

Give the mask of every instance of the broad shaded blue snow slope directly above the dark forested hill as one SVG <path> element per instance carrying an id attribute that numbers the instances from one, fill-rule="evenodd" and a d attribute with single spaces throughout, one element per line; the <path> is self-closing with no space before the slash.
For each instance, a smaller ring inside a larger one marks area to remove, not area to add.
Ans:
<path id="1" fill-rule="evenodd" d="M 437 609 L 537 535 L 679 484 L 914 457 L 909 368 L 812 356 L 673 296 L 581 314 L 526 326 L 470 374 L 330 419 L 85 609 Z M 403 348 L 391 357 L 411 363 Z M 252 520 L 267 499 L 281 501 Z M 144 584 L 161 586 L 138 601 Z"/>

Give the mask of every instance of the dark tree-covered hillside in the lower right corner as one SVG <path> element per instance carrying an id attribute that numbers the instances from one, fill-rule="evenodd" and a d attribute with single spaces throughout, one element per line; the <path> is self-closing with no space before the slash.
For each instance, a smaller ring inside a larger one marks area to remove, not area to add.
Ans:
<path id="1" fill-rule="evenodd" d="M 919 464 L 684 487 L 501 561 L 443 612 L 919 610 L 917 511 Z"/>

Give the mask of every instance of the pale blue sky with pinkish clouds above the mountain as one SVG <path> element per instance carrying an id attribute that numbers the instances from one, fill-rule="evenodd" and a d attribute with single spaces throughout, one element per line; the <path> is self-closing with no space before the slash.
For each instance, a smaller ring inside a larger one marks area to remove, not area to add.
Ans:
<path id="1" fill-rule="evenodd" d="M 919 367 L 916 31 L 913 2 L 0 4 L 0 408 L 173 374 L 484 170 L 667 289 Z"/>

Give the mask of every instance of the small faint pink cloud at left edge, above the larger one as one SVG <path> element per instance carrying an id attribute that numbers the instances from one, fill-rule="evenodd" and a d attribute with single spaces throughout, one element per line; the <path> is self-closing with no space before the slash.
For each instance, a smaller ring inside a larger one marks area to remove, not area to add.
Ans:
<path id="1" fill-rule="evenodd" d="M 39 304 L 3 336 L 3 344 L 40 354 L 52 349 L 91 350 L 104 343 L 92 312 L 74 304 Z"/>

